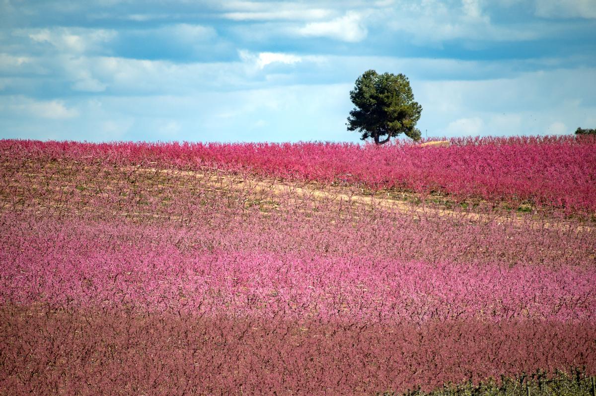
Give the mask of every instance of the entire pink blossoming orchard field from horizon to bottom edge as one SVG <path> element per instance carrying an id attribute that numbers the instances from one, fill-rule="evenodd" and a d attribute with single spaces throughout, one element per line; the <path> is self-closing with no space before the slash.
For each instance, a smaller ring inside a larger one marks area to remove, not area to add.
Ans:
<path id="1" fill-rule="evenodd" d="M 0 153 L 2 394 L 594 392 L 593 137 Z"/>

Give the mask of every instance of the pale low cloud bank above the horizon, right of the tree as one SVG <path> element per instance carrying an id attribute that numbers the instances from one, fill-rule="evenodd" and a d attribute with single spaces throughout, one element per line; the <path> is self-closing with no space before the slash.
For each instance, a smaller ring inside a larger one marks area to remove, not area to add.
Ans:
<path id="1" fill-rule="evenodd" d="M 596 117 L 585 84 L 594 79 L 596 68 L 559 68 L 501 79 L 414 82 L 423 107 L 418 127 L 428 136 L 571 133 L 567 126 Z"/>

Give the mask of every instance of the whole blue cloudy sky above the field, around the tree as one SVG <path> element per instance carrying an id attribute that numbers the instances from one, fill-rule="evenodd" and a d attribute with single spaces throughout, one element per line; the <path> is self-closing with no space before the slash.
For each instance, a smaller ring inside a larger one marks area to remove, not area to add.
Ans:
<path id="1" fill-rule="evenodd" d="M 364 71 L 423 137 L 596 127 L 596 0 L 0 0 L 0 139 L 358 142 Z"/>

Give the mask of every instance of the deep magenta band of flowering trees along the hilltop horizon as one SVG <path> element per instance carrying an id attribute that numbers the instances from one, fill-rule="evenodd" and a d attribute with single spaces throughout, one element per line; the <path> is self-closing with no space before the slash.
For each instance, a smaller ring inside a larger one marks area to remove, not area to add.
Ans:
<path id="1" fill-rule="evenodd" d="M 422 148 L 398 142 L 374 145 L 300 144 L 86 144 L 0 142 L 7 158 L 144 163 L 153 167 L 218 167 L 261 177 L 359 184 L 373 189 L 431 192 L 596 211 L 596 137 L 544 136 L 452 139 L 452 146 Z"/>

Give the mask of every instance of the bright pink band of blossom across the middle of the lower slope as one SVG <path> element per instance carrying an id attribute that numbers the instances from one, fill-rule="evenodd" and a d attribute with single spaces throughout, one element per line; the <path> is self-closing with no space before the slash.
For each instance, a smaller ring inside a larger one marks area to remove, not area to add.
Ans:
<path id="1" fill-rule="evenodd" d="M 13 232 L 2 235 L 0 252 L 2 303 L 356 322 L 596 320 L 596 267 L 184 249 L 184 230 L 162 226 L 134 241 L 98 235 L 109 227 L 75 220 L 31 231 L 8 227 Z"/>

